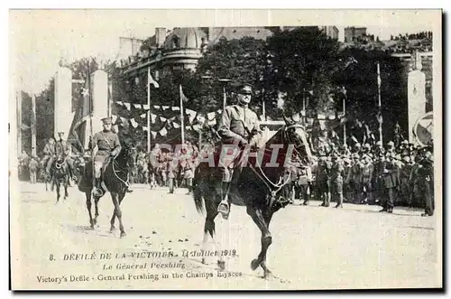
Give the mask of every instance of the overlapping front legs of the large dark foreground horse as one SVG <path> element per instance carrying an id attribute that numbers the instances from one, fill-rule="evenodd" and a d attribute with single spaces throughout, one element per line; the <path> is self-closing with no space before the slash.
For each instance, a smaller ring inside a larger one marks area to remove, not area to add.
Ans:
<path id="1" fill-rule="evenodd" d="M 269 208 L 268 208 L 269 209 Z M 271 212 L 268 211 L 266 217 L 263 216 L 263 212 L 260 208 L 255 206 L 247 206 L 247 213 L 253 219 L 253 222 L 257 225 L 257 227 L 262 232 L 262 250 L 257 258 L 253 259 L 251 262 L 251 268 L 255 270 L 258 266 L 262 266 L 263 268 L 263 278 L 272 278 L 272 272 L 266 266 L 266 253 L 268 248 L 272 243 L 272 236 L 269 230 L 269 221 L 272 218 Z"/>

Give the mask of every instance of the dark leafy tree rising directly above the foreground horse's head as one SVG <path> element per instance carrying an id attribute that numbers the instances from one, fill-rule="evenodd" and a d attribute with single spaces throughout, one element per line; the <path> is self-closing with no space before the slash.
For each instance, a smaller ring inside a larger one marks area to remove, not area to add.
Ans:
<path id="1" fill-rule="evenodd" d="M 339 44 L 318 27 L 299 27 L 275 33 L 268 39 L 267 50 L 273 54 L 269 75 L 272 93 L 287 94 L 287 110 L 299 111 L 305 91 L 313 90 L 309 106 L 317 112 L 331 108 L 330 93 L 336 89 L 333 74 L 340 68 Z M 280 117 L 280 115 L 279 115 Z"/>

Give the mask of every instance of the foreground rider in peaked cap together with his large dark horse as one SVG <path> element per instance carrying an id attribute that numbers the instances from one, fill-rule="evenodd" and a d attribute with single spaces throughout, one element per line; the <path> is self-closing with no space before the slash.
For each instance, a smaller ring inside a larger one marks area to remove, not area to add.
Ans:
<path id="1" fill-rule="evenodd" d="M 269 278 L 272 273 L 266 266 L 266 253 L 272 244 L 270 222 L 273 214 L 290 202 L 283 195 L 284 186 L 289 182 L 284 175 L 286 165 L 294 161 L 308 163 L 312 154 L 304 127 L 288 119 L 262 145 L 257 116 L 248 108 L 252 95 L 252 87 L 243 85 L 238 90 L 238 104 L 225 108 L 218 124 L 221 151 L 202 154 L 195 173 L 193 197 L 197 210 L 207 211 L 203 247 L 208 238 L 215 238 L 215 219 L 219 213 L 227 219 L 231 203 L 246 207 L 247 214 L 262 232 L 262 249 L 251 262 L 251 268 L 261 266 L 263 276 Z M 250 151 L 252 147 L 255 152 Z M 235 154 L 230 154 L 231 150 Z M 219 257 L 217 265 L 225 268 L 223 257 Z"/>

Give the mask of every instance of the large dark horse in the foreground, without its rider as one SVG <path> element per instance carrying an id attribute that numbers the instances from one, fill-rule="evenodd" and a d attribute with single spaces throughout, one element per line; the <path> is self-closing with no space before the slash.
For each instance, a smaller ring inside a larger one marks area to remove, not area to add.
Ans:
<path id="1" fill-rule="evenodd" d="M 258 266 L 262 266 L 263 277 L 265 278 L 272 276 L 271 271 L 266 266 L 266 252 L 272 243 L 269 230 L 272 215 L 289 203 L 289 199 L 282 197 L 283 187 L 287 183 L 283 180 L 286 158 L 290 163 L 290 161 L 295 160 L 308 161 L 311 157 L 303 126 L 289 123 L 288 120 L 285 121 L 286 124 L 259 151 L 262 153 L 260 166 L 252 163 L 253 160 L 250 158 L 249 164 L 243 168 L 238 177 L 236 190 L 231 189 L 229 192 L 234 204 L 240 204 L 240 200 L 244 203 L 247 214 L 251 216 L 253 222 L 262 231 L 262 251 L 257 258 L 253 259 L 251 268 L 255 270 Z M 274 152 L 274 156 L 277 156 L 276 163 L 278 165 L 274 167 L 267 165 L 274 162 L 272 160 L 274 147 L 271 145 L 279 145 L 279 148 L 275 149 L 279 152 Z M 216 155 L 215 163 L 217 165 Z M 213 240 L 215 239 L 215 218 L 218 214 L 217 206 L 222 196 L 220 187 L 217 188 L 217 184 L 220 182 L 219 168 L 208 167 L 206 162 L 199 164 L 195 175 L 193 196 L 198 212 L 203 211 L 204 201 L 207 210 L 203 246 L 207 243 L 208 235 Z M 231 210 L 233 214 L 233 209 Z M 205 260 L 203 259 L 202 262 L 204 263 Z M 226 263 L 222 257 L 218 259 L 217 265 L 221 269 L 225 269 Z"/>

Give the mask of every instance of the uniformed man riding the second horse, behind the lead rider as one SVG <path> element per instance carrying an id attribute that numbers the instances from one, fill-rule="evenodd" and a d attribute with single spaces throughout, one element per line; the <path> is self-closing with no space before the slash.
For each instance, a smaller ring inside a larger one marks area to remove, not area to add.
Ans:
<path id="1" fill-rule="evenodd" d="M 122 150 L 121 143 L 117 134 L 111 131 L 112 120 L 111 117 L 105 117 L 101 119 L 104 129 L 97 132 L 92 137 L 92 142 L 89 145 L 89 149 L 94 151 L 97 146 L 97 153 L 94 156 L 94 191 L 95 196 L 102 196 L 104 190 L 101 186 L 102 182 L 102 170 L 106 168 L 106 164 L 114 159 L 117 154 Z M 131 192 L 128 190 L 128 192 Z"/>

